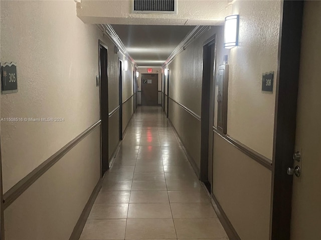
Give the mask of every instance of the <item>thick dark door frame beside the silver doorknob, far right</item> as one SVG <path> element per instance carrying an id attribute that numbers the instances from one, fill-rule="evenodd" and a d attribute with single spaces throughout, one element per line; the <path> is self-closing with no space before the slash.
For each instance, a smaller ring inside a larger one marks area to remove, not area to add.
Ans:
<path id="1" fill-rule="evenodd" d="M 274 115 L 270 239 L 289 240 L 303 1 L 282 1 Z"/>

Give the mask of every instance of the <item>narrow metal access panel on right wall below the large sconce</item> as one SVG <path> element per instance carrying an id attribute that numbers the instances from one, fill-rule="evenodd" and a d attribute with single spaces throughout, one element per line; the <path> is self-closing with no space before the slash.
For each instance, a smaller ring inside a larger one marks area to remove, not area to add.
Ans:
<path id="1" fill-rule="evenodd" d="M 229 85 L 229 65 L 223 64 L 219 67 L 217 100 L 217 129 L 223 134 L 227 133 L 227 96 Z"/>

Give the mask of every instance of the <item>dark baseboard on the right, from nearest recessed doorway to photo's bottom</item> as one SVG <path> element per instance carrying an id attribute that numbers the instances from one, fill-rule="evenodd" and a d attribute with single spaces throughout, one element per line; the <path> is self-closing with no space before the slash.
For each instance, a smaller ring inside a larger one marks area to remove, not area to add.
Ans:
<path id="1" fill-rule="evenodd" d="M 237 234 L 235 228 L 233 227 L 232 223 L 230 222 L 229 218 L 225 214 L 222 206 L 218 202 L 215 195 L 211 194 L 211 203 L 214 207 L 214 210 L 220 220 L 220 222 L 223 225 L 224 230 L 226 231 L 226 234 L 228 235 L 230 240 L 241 240 L 240 236 Z"/>

